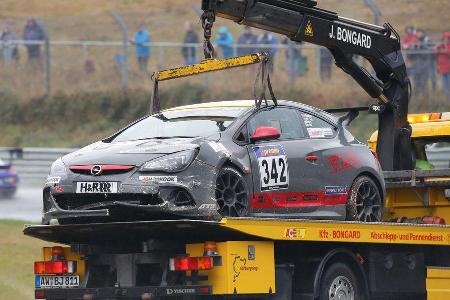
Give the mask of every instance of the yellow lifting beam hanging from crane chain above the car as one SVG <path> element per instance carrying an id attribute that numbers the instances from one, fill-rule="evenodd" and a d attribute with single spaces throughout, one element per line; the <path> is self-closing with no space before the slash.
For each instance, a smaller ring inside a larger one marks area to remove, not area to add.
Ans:
<path id="1" fill-rule="evenodd" d="M 198 64 L 155 72 L 153 73 L 153 79 L 156 81 L 165 81 L 188 77 L 207 72 L 257 64 L 265 59 L 266 55 L 264 53 L 255 53 L 226 59 L 206 59 Z"/>

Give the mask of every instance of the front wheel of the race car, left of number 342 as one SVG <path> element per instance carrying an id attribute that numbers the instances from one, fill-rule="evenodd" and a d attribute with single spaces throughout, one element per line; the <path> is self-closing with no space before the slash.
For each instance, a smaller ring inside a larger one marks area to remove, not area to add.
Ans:
<path id="1" fill-rule="evenodd" d="M 220 170 L 216 180 L 216 201 L 223 217 L 248 215 L 250 189 L 244 176 L 232 167 Z"/>

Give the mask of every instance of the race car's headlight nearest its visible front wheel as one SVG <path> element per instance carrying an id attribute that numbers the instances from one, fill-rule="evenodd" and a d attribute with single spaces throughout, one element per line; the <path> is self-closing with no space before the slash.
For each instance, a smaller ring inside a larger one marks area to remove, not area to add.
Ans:
<path id="1" fill-rule="evenodd" d="M 189 167 L 197 155 L 197 149 L 169 154 L 146 162 L 141 171 L 180 172 Z"/>

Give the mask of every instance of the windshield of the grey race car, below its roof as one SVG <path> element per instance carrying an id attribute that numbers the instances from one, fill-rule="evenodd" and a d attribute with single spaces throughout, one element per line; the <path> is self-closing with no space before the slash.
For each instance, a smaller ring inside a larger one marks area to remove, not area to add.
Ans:
<path id="1" fill-rule="evenodd" d="M 161 112 L 119 133 L 115 142 L 205 137 L 224 131 L 245 108 L 185 109 Z"/>

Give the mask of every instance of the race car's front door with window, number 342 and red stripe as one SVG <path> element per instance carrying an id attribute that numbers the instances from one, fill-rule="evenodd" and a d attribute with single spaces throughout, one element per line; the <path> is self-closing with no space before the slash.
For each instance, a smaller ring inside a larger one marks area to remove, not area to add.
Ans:
<path id="1" fill-rule="evenodd" d="M 289 213 L 308 197 L 310 170 L 305 159 L 310 152 L 306 129 L 295 108 L 272 107 L 252 116 L 249 135 L 260 126 L 277 128 L 278 139 L 249 144 L 252 164 L 253 195 L 250 211 L 254 213 Z"/>

